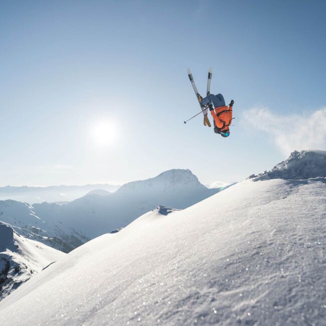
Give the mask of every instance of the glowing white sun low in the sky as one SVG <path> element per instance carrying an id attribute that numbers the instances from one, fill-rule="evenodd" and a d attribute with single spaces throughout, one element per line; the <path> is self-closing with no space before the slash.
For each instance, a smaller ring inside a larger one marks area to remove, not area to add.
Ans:
<path id="1" fill-rule="evenodd" d="M 92 128 L 92 137 L 98 146 L 112 145 L 117 138 L 117 127 L 112 121 L 99 121 Z"/>

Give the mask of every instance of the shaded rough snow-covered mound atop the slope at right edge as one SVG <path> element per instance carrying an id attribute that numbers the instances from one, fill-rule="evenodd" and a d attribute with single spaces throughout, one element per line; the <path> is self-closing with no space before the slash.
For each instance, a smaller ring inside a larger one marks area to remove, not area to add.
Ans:
<path id="1" fill-rule="evenodd" d="M 293 151 L 284 161 L 277 164 L 272 170 L 265 171 L 258 176 L 252 175 L 248 179 L 254 181 L 284 179 L 304 180 L 312 178 L 326 178 L 326 151 L 302 150 Z"/>

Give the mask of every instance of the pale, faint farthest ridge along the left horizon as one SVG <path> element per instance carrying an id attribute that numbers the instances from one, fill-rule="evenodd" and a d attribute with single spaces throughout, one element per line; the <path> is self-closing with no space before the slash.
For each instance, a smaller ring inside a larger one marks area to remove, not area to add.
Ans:
<path id="1" fill-rule="evenodd" d="M 51 187 L 0 187 L 0 200 L 16 200 L 24 203 L 71 202 L 85 196 L 93 190 L 116 191 L 116 185 L 85 185 L 85 186 L 51 186 Z"/>

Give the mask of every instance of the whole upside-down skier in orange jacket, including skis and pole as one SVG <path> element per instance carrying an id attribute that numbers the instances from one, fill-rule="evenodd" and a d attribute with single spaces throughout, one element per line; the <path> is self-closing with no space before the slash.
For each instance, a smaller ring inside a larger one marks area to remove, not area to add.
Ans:
<path id="1" fill-rule="evenodd" d="M 211 123 L 207 116 L 207 112 L 209 109 L 212 114 L 213 121 L 214 121 L 214 132 L 217 134 L 220 134 L 222 137 L 228 137 L 230 135 L 229 126 L 231 125 L 231 122 L 232 122 L 232 109 L 233 109 L 234 101 L 231 100 L 229 106 L 226 106 L 225 100 L 224 100 L 224 97 L 222 94 L 213 95 L 210 93 L 212 72 L 213 72 L 212 67 L 209 69 L 209 72 L 208 72 L 207 91 L 206 91 L 206 97 L 204 97 L 204 98 L 199 94 L 196 84 L 195 84 L 195 81 L 194 81 L 194 78 L 193 78 L 193 75 L 189 68 L 188 68 L 187 72 L 188 72 L 188 77 L 190 79 L 190 82 L 191 82 L 193 89 L 195 91 L 195 94 L 197 96 L 199 105 L 204 114 L 204 125 L 208 125 L 209 127 L 211 126 Z M 192 118 L 194 118 L 195 116 L 193 116 Z M 187 121 L 189 121 L 189 120 L 187 120 Z M 186 123 L 187 121 L 184 121 L 184 122 Z"/>

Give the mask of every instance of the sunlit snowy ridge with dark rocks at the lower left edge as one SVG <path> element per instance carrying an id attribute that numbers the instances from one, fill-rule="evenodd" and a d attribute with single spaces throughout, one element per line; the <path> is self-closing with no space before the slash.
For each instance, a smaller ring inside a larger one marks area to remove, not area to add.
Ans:
<path id="1" fill-rule="evenodd" d="M 0 223 L 0 300 L 64 255 Z"/>

